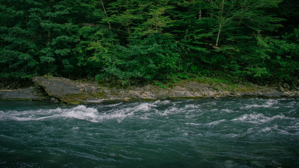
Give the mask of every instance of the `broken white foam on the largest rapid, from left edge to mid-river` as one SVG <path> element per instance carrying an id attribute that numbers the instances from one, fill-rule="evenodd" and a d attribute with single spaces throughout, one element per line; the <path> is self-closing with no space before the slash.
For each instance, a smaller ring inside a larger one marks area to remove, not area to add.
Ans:
<path id="1" fill-rule="evenodd" d="M 163 102 L 167 104 L 167 102 Z M 169 103 L 169 101 L 168 101 Z M 102 107 L 116 107 L 121 105 L 110 104 L 103 105 Z M 136 112 L 148 112 L 149 110 L 155 110 L 157 104 L 161 104 L 161 101 L 155 101 L 153 103 L 138 103 L 134 107 L 125 107 L 120 109 L 112 109 L 108 111 L 98 111 L 94 107 L 86 107 L 85 105 L 78 105 L 72 108 L 57 108 L 51 110 L 28 110 L 28 111 L 0 111 L 0 120 L 14 120 L 14 121 L 30 121 L 30 120 L 43 120 L 47 118 L 76 118 L 80 120 L 86 120 L 90 122 L 101 122 L 109 119 L 116 119 L 118 122 L 123 121 L 124 118 L 132 117 Z M 161 112 L 161 115 L 167 115 L 169 112 L 176 111 L 176 108 L 170 108 Z M 155 110 L 157 112 L 157 110 Z M 150 113 L 144 113 L 140 118 L 147 119 Z"/>

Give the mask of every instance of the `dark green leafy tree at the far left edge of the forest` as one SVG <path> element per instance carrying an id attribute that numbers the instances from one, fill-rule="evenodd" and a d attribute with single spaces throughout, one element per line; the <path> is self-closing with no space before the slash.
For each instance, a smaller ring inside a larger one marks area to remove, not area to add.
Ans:
<path id="1" fill-rule="evenodd" d="M 26 27 L 28 5 L 20 1 L 0 3 L 0 78 L 26 78 L 35 75 L 37 45 Z"/>

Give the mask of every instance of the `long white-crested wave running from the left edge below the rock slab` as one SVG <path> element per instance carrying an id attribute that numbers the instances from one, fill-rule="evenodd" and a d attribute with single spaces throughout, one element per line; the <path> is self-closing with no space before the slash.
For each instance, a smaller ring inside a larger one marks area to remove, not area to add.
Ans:
<path id="1" fill-rule="evenodd" d="M 179 107 L 180 102 L 154 101 L 144 103 L 117 103 L 87 107 L 78 105 L 71 108 L 41 109 L 27 111 L 0 111 L 0 120 L 31 121 L 49 118 L 76 118 L 90 122 L 105 120 L 123 121 L 125 118 L 149 119 L 152 115 L 168 116 L 179 112 L 200 111 L 200 105 L 187 104 Z"/>

